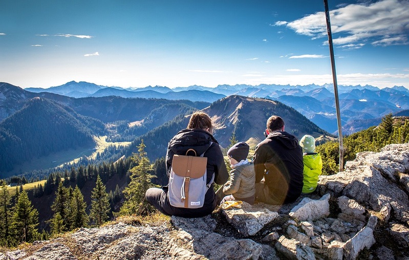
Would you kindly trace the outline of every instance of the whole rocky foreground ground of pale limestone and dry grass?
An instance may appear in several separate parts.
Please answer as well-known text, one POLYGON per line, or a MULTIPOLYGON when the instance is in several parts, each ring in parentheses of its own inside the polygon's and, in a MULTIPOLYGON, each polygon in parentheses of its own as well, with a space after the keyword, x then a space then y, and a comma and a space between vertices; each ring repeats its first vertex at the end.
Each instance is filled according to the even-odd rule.
POLYGON ((283 206, 243 203, 198 219, 132 218, 3 250, 9 259, 409 259, 409 144, 360 153, 283 206))

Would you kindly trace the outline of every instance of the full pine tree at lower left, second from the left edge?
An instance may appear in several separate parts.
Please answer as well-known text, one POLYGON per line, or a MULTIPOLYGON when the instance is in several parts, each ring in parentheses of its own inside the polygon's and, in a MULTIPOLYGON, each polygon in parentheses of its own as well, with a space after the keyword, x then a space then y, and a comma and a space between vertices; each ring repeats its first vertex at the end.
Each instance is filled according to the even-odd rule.
POLYGON ((38 236, 38 211, 28 198, 27 191, 18 196, 14 206, 11 227, 18 242, 32 242, 38 236))

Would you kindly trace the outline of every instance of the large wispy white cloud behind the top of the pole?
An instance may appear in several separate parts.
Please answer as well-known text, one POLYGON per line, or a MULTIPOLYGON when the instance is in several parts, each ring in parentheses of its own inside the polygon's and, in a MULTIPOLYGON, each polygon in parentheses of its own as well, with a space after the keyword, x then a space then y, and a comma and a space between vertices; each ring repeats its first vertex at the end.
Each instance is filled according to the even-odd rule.
MULTIPOLYGON (((370 41, 377 46, 409 44, 406 37, 409 32, 408 5, 407 0, 365 1, 330 11, 334 44, 348 46, 364 41, 370 41)), ((324 12, 310 14, 294 21, 277 21, 274 25, 286 26, 312 39, 327 37, 324 12)), ((326 42, 324 41, 324 44, 326 42)))

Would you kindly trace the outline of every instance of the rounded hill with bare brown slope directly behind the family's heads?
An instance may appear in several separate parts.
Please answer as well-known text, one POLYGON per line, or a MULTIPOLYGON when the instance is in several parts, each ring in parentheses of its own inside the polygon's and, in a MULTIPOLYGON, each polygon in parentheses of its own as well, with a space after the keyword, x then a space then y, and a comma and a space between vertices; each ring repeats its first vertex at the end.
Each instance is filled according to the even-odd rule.
MULTIPOLYGON (((323 139, 321 141, 331 137, 329 133, 291 107, 268 99, 234 95, 213 102, 203 112, 207 113, 216 125, 213 135, 222 147, 230 144, 233 133, 237 140, 249 142, 250 146, 254 147, 265 138, 263 133, 266 122, 272 115, 283 117, 286 122, 285 130, 299 138, 305 134, 313 135, 318 140, 323 139)), ((188 116, 178 116, 138 137, 130 146, 123 148, 120 154, 131 156, 132 153, 136 153, 136 146, 144 140, 149 159, 161 158, 166 155, 169 140, 180 130, 185 129, 188 121, 188 116)), ((104 160, 110 158, 105 157, 104 160)))

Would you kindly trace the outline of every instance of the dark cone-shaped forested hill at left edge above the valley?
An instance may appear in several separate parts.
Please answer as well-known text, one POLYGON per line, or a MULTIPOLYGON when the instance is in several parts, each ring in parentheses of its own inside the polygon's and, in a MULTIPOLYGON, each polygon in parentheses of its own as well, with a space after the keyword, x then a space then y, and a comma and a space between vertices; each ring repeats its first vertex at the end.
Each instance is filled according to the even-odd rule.
POLYGON ((48 99, 33 98, 0 122, 0 171, 35 157, 93 143, 93 134, 105 133, 104 124, 97 119, 78 115, 48 99))

